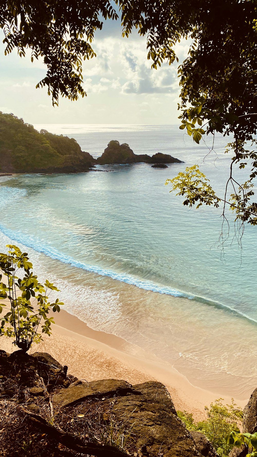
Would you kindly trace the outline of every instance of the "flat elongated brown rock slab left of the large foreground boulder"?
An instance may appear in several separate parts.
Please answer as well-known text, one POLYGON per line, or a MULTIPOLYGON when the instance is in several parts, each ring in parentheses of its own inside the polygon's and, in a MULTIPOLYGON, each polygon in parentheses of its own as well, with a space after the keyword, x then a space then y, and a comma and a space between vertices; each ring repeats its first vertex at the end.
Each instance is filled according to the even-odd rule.
POLYGON ((55 407, 64 408, 80 403, 89 398, 113 397, 134 392, 131 384, 117 379, 103 379, 91 383, 75 382, 67 389, 62 389, 53 397, 55 407))

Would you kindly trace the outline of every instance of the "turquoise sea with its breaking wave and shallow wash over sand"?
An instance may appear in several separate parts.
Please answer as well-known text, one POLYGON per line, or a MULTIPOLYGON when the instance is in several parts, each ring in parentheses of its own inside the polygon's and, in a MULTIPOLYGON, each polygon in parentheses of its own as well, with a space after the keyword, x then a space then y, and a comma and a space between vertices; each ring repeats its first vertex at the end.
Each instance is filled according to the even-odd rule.
POLYGON ((198 163, 221 194, 227 139, 215 138, 219 159, 214 163, 212 152, 203 163, 210 140, 194 145, 177 126, 36 128, 68 134, 95 157, 118 139, 136 154, 164 152, 186 163, 2 178, 0 248, 10 239, 30 248, 35 269, 63 286, 66 309, 92 328, 154 353, 196 385, 231 388, 246 398, 256 376, 255 365, 245 369, 249 352, 257 355, 256 228, 246 226, 241 251, 237 242, 230 245, 230 215, 221 261, 221 211, 189 210, 164 185, 198 163))

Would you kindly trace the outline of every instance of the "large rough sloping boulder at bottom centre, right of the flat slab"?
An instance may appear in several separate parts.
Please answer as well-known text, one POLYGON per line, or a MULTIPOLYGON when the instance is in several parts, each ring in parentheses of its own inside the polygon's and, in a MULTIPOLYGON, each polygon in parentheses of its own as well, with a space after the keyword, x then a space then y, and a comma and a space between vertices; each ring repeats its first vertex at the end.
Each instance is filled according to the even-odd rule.
POLYGON ((150 381, 133 388, 141 395, 130 393, 118 397, 112 413, 118 421, 133 427, 139 455, 199 457, 192 436, 177 417, 166 387, 150 381))

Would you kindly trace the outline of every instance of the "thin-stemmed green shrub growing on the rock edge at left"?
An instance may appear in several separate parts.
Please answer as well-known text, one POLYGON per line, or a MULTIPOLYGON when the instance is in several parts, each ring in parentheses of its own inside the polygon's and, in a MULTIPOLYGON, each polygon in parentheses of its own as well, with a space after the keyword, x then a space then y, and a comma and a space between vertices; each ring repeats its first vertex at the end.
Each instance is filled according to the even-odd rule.
MULTIPOLYGON (((0 253, 0 271, 7 276, 8 283, 0 282, 0 314, 7 307, 7 313, 0 323, 0 336, 14 338, 14 345, 27 352, 32 343, 42 340, 41 333, 51 335, 52 317, 48 318, 49 309, 59 313, 64 303, 57 298, 54 303, 48 302, 48 292, 59 291, 57 287, 46 280, 44 286, 33 275, 32 263, 29 262, 27 252, 12 244, 7 244, 8 254, 0 253), (24 270, 25 276, 21 279, 16 276, 17 271, 24 270), (43 322, 42 322, 43 319, 43 322), (39 326, 41 325, 41 332, 39 326)), ((0 281, 2 274, 0 274, 0 281)))

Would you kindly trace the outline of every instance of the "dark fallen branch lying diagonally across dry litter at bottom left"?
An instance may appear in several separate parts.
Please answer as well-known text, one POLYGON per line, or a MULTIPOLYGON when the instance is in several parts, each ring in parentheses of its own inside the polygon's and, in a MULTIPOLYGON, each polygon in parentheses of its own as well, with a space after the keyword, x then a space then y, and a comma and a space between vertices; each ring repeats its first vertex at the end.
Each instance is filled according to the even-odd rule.
POLYGON ((20 406, 20 408, 27 414, 33 425, 35 425, 40 432, 46 433, 49 437, 63 444, 72 451, 96 457, 128 457, 127 453, 119 451, 113 446, 102 446, 101 444, 95 444, 92 442, 84 443, 84 441, 82 441, 78 436, 60 431, 53 425, 49 425, 48 422, 38 414, 31 413, 22 406, 20 406))

